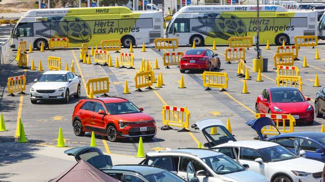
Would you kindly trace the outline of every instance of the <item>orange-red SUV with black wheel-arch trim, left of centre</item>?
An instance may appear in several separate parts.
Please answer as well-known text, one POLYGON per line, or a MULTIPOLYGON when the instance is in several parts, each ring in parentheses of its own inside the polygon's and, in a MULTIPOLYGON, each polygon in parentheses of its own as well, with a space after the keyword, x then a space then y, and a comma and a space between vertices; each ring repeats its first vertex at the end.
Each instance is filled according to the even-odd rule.
POLYGON ((75 106, 72 125, 77 136, 94 131, 109 141, 140 136, 151 139, 157 133, 156 121, 142 111, 120 97, 82 99, 75 106))

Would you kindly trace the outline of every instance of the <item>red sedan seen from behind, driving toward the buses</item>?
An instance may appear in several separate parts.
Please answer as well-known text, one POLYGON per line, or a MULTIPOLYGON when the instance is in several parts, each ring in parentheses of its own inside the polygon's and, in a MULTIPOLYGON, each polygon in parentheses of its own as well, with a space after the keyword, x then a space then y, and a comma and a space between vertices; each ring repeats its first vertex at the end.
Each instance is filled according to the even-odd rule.
POLYGON ((185 73, 185 70, 218 70, 220 65, 218 54, 210 49, 190 49, 180 58, 179 71, 185 73))

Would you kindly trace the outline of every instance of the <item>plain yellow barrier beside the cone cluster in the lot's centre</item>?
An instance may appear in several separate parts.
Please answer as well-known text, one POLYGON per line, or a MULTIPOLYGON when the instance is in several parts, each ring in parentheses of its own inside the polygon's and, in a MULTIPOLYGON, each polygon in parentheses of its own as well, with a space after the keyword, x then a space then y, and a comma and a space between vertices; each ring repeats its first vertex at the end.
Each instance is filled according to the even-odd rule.
POLYGON ((154 75, 153 71, 145 71, 141 73, 137 73, 135 76, 135 84, 136 88, 138 89, 137 91, 142 92, 141 88, 142 87, 148 87, 148 89, 152 90, 151 86, 154 83, 154 75))

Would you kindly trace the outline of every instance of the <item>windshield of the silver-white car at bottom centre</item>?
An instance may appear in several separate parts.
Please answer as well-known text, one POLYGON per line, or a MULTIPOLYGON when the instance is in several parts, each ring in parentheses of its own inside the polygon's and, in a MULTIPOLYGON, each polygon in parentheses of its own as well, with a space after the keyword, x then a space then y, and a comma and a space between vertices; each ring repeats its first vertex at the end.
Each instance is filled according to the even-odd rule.
POLYGON ((229 174, 244 171, 245 168, 226 155, 201 158, 217 174, 229 174))

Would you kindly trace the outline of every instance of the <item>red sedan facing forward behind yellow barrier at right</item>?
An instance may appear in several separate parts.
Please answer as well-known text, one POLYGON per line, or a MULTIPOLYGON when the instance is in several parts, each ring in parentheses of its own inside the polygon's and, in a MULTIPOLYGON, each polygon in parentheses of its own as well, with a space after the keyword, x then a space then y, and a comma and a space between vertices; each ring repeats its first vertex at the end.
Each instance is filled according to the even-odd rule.
POLYGON ((291 114, 296 121, 312 124, 314 108, 298 89, 292 87, 272 87, 264 89, 256 99, 258 113, 291 114))

